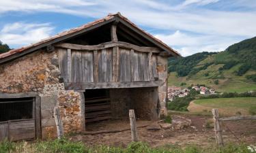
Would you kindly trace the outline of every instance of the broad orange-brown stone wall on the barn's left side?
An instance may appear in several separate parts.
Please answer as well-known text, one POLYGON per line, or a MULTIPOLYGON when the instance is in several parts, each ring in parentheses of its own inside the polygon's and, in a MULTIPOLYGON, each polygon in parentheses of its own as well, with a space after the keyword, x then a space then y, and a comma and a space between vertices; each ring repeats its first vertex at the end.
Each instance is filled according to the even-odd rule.
POLYGON ((58 63, 57 52, 38 51, 0 65, 0 93, 37 92, 41 97, 43 139, 56 136, 55 106, 65 133, 81 131, 81 97, 59 83, 58 63))

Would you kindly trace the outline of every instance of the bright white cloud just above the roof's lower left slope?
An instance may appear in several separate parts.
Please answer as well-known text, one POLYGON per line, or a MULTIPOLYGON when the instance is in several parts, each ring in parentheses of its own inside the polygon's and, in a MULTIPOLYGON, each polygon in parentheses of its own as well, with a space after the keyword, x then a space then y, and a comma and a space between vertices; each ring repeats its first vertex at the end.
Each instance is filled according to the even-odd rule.
POLYGON ((49 23, 14 22, 3 26, 0 31, 0 39, 11 46, 23 46, 49 37, 53 34, 53 29, 49 23))

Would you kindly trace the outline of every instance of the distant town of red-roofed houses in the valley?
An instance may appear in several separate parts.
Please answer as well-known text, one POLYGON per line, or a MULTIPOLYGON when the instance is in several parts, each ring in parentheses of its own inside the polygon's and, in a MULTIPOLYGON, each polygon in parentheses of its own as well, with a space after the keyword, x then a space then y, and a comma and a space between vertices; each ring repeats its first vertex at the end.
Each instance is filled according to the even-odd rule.
MULTIPOLYGON (((199 91, 202 95, 210 95, 215 94, 215 90, 212 88, 207 88, 205 86, 192 86, 191 89, 195 89, 199 91)), ((175 97, 185 97, 189 94, 189 88, 182 88, 179 86, 169 86, 168 87, 168 99, 169 101, 173 101, 175 97)))

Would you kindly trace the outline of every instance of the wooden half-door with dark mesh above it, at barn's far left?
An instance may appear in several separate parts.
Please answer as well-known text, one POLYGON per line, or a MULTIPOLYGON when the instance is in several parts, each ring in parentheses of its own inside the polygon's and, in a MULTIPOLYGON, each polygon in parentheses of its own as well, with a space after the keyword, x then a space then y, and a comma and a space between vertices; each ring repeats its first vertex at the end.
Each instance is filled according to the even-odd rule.
POLYGON ((35 98, 0 99, 0 141, 35 139, 35 98))

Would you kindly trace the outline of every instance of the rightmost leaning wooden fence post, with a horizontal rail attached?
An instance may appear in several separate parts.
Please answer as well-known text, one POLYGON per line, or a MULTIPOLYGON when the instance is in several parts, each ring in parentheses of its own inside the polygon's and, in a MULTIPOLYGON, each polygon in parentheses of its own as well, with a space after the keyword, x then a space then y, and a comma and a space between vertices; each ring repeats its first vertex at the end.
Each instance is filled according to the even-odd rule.
POLYGON ((213 120, 214 120, 214 131, 216 137, 216 143, 219 148, 223 147, 223 138, 221 136, 221 127, 218 122, 218 109, 212 109, 213 120))

